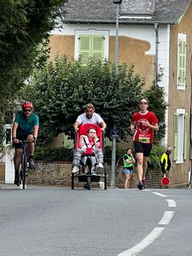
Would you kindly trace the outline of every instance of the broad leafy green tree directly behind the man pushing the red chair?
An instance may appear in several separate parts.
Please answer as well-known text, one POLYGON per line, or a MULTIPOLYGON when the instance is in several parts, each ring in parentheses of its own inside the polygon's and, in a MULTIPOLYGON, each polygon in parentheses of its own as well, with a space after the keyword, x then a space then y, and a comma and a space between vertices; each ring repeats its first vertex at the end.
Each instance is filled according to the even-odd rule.
POLYGON ((34 103, 40 117, 44 143, 60 132, 68 134, 86 102, 92 102, 96 113, 107 122, 108 137, 115 124, 122 131, 122 138, 127 139, 143 84, 133 66, 119 66, 117 82, 110 61, 90 59, 84 66, 80 60, 69 61, 62 56, 34 71, 25 96, 34 103))

